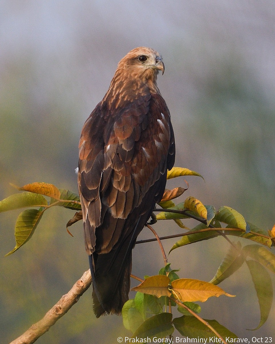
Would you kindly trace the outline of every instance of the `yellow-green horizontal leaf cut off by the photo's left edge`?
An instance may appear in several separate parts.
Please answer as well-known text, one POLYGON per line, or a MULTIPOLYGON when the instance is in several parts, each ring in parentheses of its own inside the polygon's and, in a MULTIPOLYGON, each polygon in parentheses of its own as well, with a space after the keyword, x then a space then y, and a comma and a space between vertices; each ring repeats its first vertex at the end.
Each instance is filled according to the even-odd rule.
POLYGON ((45 207, 48 203, 42 195, 32 192, 13 194, 0 201, 0 213, 26 207, 45 207))

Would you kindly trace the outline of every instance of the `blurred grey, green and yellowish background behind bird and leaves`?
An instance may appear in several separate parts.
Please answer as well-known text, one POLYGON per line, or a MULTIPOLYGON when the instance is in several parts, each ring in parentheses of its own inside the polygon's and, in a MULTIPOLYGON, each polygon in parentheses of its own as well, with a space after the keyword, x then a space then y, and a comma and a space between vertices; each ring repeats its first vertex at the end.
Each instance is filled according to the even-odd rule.
MULTIPOLYGON (((149 46, 165 63, 158 86, 172 116, 175 166, 205 178, 187 177, 183 198, 195 196, 216 209, 231 206, 264 230, 274 225, 273 0, 2 0, 0 46, 1 199, 15 192, 10 182, 43 181, 77 192, 81 128, 119 60, 134 47, 149 46)), ((168 183, 180 185, 183 178, 168 183)), ((66 223, 74 212, 64 208, 49 209, 32 239, 4 257, 15 245, 20 212, 0 214, 3 343, 40 320, 88 269, 82 224, 70 227, 69 236, 66 223)), ((159 236, 183 232, 174 222, 154 228, 159 236)), ((140 238, 148 237, 144 229, 140 238)), ((167 254, 175 241, 164 242, 167 254)), ((216 238, 174 250, 168 260, 180 277, 208 281, 227 249, 216 238)), ((155 275, 163 265, 157 244, 136 245, 135 275, 155 275)), ((240 337, 274 336, 274 303, 264 326, 246 330, 260 321, 246 267, 220 286, 237 296, 202 303, 201 316, 240 337)), ((120 317, 95 318, 91 292, 37 343, 115 343, 129 335, 120 317)))

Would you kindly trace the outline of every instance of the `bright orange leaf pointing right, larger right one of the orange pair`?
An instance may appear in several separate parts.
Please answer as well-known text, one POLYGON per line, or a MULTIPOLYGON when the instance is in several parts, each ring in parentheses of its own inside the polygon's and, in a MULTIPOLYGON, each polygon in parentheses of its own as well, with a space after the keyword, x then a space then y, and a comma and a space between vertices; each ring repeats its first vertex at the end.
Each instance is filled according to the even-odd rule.
POLYGON ((172 292, 181 302, 195 302, 206 301, 211 296, 219 297, 226 295, 233 297, 226 293, 223 289, 214 284, 190 278, 180 278, 171 282, 172 292))

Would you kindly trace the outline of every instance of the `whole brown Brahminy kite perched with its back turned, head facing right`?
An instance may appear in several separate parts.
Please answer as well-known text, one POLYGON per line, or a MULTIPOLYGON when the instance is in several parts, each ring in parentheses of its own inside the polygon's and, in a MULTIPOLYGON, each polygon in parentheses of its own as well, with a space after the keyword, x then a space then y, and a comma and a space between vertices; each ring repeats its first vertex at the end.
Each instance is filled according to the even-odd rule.
POLYGON ((120 314, 128 300, 132 249, 174 165, 159 71, 164 64, 155 50, 131 50, 81 131, 78 186, 97 318, 120 314))

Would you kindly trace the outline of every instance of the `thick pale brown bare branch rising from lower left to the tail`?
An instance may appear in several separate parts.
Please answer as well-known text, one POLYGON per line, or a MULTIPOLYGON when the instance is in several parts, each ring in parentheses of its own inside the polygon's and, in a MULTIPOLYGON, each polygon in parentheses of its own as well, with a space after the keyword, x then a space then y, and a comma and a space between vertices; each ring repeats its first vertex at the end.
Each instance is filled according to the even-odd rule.
POLYGON ((61 318, 79 300, 80 296, 90 287, 92 283, 90 269, 74 284, 73 288, 54 305, 43 319, 33 324, 29 330, 10 344, 32 344, 45 332, 47 332, 56 321, 61 318))

